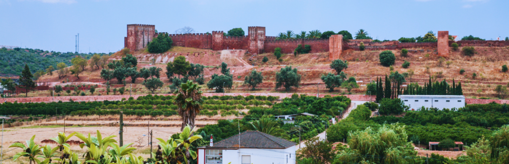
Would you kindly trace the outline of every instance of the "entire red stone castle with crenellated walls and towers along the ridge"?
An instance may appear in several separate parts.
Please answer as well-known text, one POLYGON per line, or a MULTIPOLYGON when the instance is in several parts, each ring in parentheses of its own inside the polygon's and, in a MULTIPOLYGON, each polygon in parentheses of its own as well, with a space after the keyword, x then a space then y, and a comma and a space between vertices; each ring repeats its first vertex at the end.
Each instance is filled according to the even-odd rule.
MULTIPOLYGON (((167 32, 155 32, 155 25, 128 24, 127 37, 124 38, 124 47, 131 51, 145 48, 153 38, 167 32)), ((212 34, 169 34, 174 46, 192 47, 200 49, 227 50, 245 49, 250 53, 270 53, 275 48, 281 48, 281 53, 293 53, 298 45, 310 45, 310 53, 329 52, 329 59, 340 58, 341 53, 347 49, 359 50, 363 42, 366 50, 395 50, 413 47, 435 47, 437 55, 447 57, 449 47, 455 41, 449 40, 449 31, 438 31, 438 42, 427 43, 400 43, 399 41, 372 42, 373 40, 344 41, 342 35, 332 35, 329 39, 290 39, 276 40, 276 37, 265 35, 265 27, 252 26, 247 29, 247 36, 224 36, 223 31, 212 31, 212 34)), ((462 46, 509 46, 507 41, 457 41, 462 46)))

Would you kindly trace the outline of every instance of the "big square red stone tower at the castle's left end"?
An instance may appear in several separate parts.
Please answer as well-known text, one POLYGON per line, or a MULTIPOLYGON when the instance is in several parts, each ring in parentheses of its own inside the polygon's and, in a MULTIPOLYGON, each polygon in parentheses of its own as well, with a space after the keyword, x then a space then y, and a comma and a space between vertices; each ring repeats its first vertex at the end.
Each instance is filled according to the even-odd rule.
POLYGON ((127 37, 124 38, 124 46, 131 51, 137 51, 147 46, 152 41, 155 33, 155 25, 128 24, 127 37))

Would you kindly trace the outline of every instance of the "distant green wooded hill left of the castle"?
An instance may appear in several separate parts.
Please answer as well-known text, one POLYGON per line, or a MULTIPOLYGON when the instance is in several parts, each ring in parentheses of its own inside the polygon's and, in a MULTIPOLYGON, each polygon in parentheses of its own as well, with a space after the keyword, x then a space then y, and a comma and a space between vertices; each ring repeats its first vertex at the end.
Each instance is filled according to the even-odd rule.
POLYGON ((49 65, 53 65, 53 68, 56 69, 56 64, 60 62, 71 65, 71 59, 76 55, 89 59, 93 53, 63 53, 31 48, 2 48, 0 49, 0 75, 19 76, 25 67, 25 63, 29 65, 32 73, 35 73, 38 70, 44 71, 49 67, 49 65))

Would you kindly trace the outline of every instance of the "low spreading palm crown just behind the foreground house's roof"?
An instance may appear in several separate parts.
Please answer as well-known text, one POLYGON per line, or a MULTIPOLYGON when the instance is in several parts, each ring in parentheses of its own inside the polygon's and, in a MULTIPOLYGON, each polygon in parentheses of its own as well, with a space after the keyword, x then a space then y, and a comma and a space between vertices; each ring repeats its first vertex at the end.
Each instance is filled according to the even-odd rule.
POLYGON ((279 124, 276 121, 273 121, 268 118, 260 118, 260 120, 253 121, 249 125, 242 125, 242 128, 245 130, 258 130, 259 132, 263 132, 275 137, 288 138, 289 136, 286 134, 285 130, 279 127, 279 124))

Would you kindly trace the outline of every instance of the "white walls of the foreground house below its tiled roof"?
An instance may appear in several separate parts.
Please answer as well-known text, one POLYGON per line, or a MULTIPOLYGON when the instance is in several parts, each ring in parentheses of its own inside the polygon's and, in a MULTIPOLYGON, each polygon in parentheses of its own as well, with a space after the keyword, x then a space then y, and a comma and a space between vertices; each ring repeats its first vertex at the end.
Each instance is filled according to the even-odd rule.
MULTIPOLYGON (((251 156, 253 164, 295 164, 295 146, 287 149, 240 149, 239 150, 223 150, 223 164, 242 164, 242 155, 251 156), (288 156, 288 162, 287 162, 288 156)), ((198 150, 198 164, 205 163, 204 149, 198 150)))

